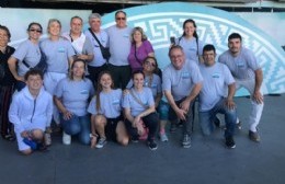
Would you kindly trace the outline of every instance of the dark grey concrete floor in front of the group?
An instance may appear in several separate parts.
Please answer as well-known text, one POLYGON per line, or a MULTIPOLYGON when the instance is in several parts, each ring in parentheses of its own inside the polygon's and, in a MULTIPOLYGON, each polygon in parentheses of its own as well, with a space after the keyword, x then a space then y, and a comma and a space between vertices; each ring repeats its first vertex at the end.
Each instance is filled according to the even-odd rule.
POLYGON ((181 130, 169 134, 169 142, 158 140, 156 151, 145 142, 128 147, 107 142, 100 150, 77 141, 64 146, 57 136, 48 152, 24 157, 18 153, 16 142, 0 139, 0 183, 284 184, 285 95, 265 96, 261 143, 248 139, 249 99, 237 97, 236 102, 243 123, 235 137, 236 149, 225 148, 223 129, 203 137, 197 122, 190 149, 180 146, 181 130))

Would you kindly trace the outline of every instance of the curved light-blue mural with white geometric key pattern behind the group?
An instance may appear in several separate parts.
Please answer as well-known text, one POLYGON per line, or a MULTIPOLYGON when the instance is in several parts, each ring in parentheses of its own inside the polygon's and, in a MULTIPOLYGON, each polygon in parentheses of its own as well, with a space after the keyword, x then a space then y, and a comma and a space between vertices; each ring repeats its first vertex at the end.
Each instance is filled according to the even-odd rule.
MULTIPOLYGON (((285 53, 278 43, 258 27, 236 14, 193 3, 169 2, 126 9, 128 26, 141 26, 152 43, 159 67, 169 62, 170 36, 182 35, 182 23, 193 19, 197 23, 200 38, 214 44, 217 54, 227 49, 227 38, 232 32, 243 37, 243 45, 255 53, 264 72, 263 91, 265 94, 285 92, 285 53)), ((114 22, 114 12, 103 16, 103 27, 114 22)), ((246 95, 239 90, 237 95, 246 95)))

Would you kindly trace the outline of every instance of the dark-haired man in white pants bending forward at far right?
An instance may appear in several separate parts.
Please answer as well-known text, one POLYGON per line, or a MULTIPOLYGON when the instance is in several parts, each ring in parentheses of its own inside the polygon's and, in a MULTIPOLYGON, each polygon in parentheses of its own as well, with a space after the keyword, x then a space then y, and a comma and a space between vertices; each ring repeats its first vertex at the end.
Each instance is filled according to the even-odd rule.
POLYGON ((228 37, 229 49, 219 56, 218 61, 226 64, 236 80, 236 89, 246 88, 251 95, 252 111, 249 117, 249 138, 260 141, 256 126, 263 111, 263 95, 261 85, 263 72, 255 56, 248 48, 242 47, 240 34, 232 33, 228 37))

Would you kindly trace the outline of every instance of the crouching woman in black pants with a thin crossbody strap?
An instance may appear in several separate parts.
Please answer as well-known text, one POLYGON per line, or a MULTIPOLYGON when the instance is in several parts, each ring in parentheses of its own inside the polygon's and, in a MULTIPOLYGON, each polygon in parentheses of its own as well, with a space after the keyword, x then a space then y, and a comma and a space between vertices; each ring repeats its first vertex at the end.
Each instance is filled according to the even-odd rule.
POLYGON ((141 136, 141 124, 148 128, 147 145, 150 150, 156 150, 157 143, 155 135, 157 133, 159 117, 156 113, 156 105, 152 92, 144 87, 145 73, 140 70, 133 72, 134 87, 124 95, 123 107, 125 114, 125 125, 132 141, 138 141, 141 136))

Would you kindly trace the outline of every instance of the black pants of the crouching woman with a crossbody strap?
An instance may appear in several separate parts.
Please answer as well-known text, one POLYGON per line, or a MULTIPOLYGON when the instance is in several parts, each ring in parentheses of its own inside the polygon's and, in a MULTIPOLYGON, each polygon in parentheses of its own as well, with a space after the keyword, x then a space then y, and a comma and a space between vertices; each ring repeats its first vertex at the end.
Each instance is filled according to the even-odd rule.
MULTIPOLYGON (((145 123, 146 127, 149 130, 148 140, 155 139, 155 136, 156 136, 156 133, 157 133, 157 129, 158 129, 158 123, 159 123, 158 114, 151 113, 151 114, 142 117, 142 122, 145 123)), ((138 139, 139 135, 137 133, 137 128, 134 128, 132 126, 132 123, 128 119, 125 120, 125 125, 126 125, 126 128, 127 128, 129 136, 134 139, 138 139)))

